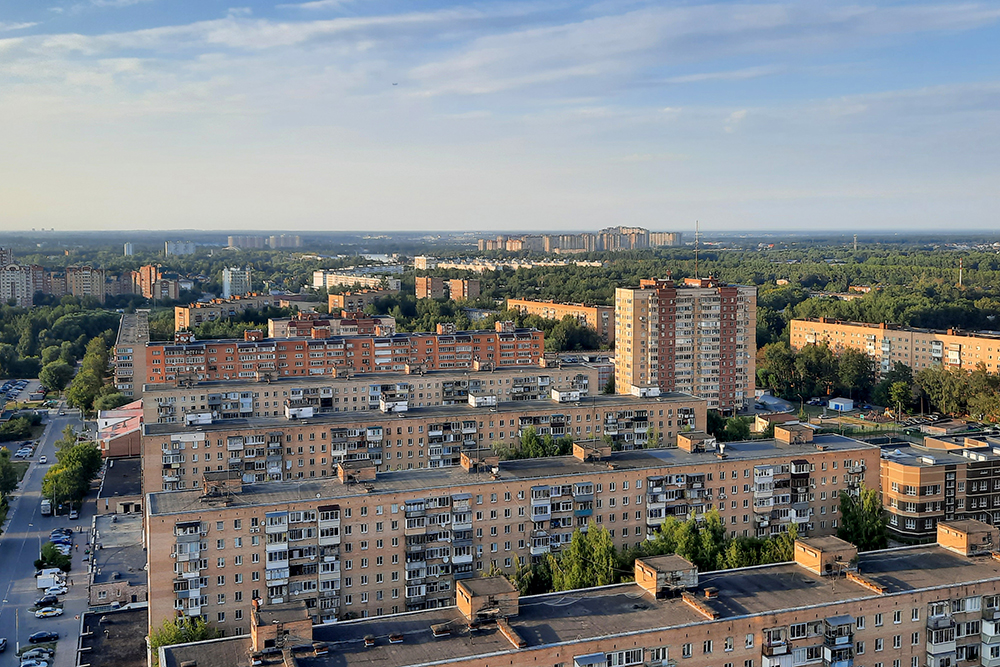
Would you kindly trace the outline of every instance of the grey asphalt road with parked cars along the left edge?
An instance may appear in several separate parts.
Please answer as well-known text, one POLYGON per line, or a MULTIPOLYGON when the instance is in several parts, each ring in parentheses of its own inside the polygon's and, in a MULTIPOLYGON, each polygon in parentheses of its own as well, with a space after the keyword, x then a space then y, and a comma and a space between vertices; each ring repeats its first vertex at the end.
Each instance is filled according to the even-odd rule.
MULTIPOLYGON (((28 635, 39 630, 59 633, 53 667, 72 667, 76 664, 76 647, 80 634, 80 620, 77 618, 87 608, 87 564, 82 561, 90 534, 91 519, 94 515, 93 502, 84 503, 80 519, 70 521, 64 516, 42 516, 39 511, 42 477, 49 465, 55 461, 55 442, 62 430, 72 424, 81 425, 76 411, 67 410, 66 416, 50 417, 38 449, 31 459, 31 465, 21 485, 14 492, 14 500, 7 514, 7 525, 0 536, 0 637, 7 638, 7 651, 0 653, 0 665, 18 663, 15 650, 18 641, 21 648, 28 646, 28 635), (48 457, 49 463, 39 465, 38 458, 48 457), (79 528, 76 543, 79 551, 73 552, 73 570, 69 578, 74 585, 69 594, 63 596, 65 613, 55 618, 35 618, 28 611, 34 601, 41 597, 36 588, 34 561, 38 558, 41 545, 48 540, 49 532, 58 526, 79 528), (15 610, 18 631, 15 631, 15 610)), ((54 415, 55 413, 53 413, 54 415)), ((67 582, 68 583, 68 582, 67 582)))

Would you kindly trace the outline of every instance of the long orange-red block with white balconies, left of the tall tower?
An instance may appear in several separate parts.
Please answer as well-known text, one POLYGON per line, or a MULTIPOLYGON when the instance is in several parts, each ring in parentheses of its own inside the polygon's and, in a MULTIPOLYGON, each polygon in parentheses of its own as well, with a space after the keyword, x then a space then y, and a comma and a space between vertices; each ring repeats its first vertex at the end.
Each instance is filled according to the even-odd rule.
POLYGON ((457 331, 394 336, 335 336, 265 339, 247 331, 244 340, 196 341, 176 332, 173 342, 146 345, 146 382, 268 379, 403 371, 538 365, 544 335, 497 322, 494 331, 457 331))

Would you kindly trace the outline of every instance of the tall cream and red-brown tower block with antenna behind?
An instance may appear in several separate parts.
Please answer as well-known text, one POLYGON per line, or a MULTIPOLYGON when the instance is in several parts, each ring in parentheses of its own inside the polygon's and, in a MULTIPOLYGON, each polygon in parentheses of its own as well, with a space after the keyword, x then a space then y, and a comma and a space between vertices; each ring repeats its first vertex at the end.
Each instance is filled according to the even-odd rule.
POLYGON ((615 290, 615 389, 655 386, 740 410, 756 381, 757 288, 713 278, 615 290))

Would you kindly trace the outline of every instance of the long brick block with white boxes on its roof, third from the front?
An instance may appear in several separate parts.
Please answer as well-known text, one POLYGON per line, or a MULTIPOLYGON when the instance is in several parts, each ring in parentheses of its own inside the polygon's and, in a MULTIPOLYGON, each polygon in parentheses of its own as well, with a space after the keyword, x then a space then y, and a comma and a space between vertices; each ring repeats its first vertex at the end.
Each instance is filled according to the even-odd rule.
POLYGON ((189 413, 184 423, 143 427, 145 489, 197 488, 206 470, 234 471, 252 483, 333 476, 343 461, 379 470, 454 467, 469 449, 516 449, 529 429, 574 441, 603 438, 626 450, 662 447, 705 425, 705 402, 685 394, 552 395, 570 402, 470 395, 464 405, 409 409, 402 395, 385 392, 379 411, 318 414, 289 398, 268 418, 215 422, 189 413))

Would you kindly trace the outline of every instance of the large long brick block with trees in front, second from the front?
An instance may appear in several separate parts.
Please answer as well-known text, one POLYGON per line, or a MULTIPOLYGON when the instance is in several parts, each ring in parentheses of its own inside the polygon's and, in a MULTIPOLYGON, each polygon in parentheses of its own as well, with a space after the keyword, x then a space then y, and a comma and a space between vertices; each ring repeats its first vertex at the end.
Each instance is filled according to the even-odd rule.
MULTIPOLYGON (((432 610, 436 618, 451 613, 442 608, 455 604, 458 584, 491 570, 510 573, 518 563, 558 552, 586 526, 607 528, 618 548, 655 534, 665 516, 699 517, 710 510, 733 536, 777 535, 791 525, 800 535, 830 534, 837 493, 863 483, 863 471, 847 469, 878 462, 876 447, 838 435, 817 436, 805 446, 727 443, 724 451, 608 452, 601 445, 577 446, 573 456, 517 461, 470 451, 458 467, 387 473, 354 461, 339 466, 336 477, 284 484, 244 485, 238 472, 224 470, 208 473, 202 489, 151 493, 150 622, 156 627, 178 613, 206 614, 227 633, 245 633, 254 599, 265 609, 301 601, 313 622, 419 610, 432 610), (801 499, 791 497, 793 484, 801 487, 801 499)), ((994 565, 1000 572, 1000 563, 994 565)), ((935 585, 947 581, 937 578, 936 564, 920 567, 935 585)), ((872 576, 877 570, 862 571, 872 576)), ((739 586, 717 588, 741 617, 751 601, 749 609, 762 610, 759 596, 767 590, 780 594, 783 604, 796 601, 786 606, 821 601, 790 593, 765 575, 761 568, 741 575, 758 582, 745 597, 737 598, 739 586)), ((800 582, 813 581, 801 576, 800 582)), ((838 582, 837 590, 842 586, 849 584, 838 582)), ((838 599, 853 599, 859 590, 842 591, 838 599)), ((595 608, 604 607, 601 596, 595 608)), ((635 597, 628 608, 636 608, 635 597)), ((581 625, 583 608, 557 607, 573 619, 578 639, 587 627, 581 625)), ((659 625, 687 622, 667 610, 655 616, 659 625)), ((615 627, 637 629, 630 619, 599 625, 602 635, 615 627)), ((462 627, 455 631, 465 632, 462 627)), ((712 632, 721 641, 719 629, 712 632)))

